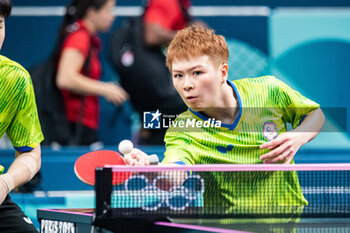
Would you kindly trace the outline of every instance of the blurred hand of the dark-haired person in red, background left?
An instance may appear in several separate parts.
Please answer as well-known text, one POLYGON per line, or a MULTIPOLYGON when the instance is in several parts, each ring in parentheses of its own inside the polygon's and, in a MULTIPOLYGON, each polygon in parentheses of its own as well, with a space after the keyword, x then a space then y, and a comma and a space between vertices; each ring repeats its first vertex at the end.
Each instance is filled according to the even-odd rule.
POLYGON ((113 82, 105 83, 103 96, 106 100, 115 105, 121 105, 129 99, 129 94, 122 87, 113 82))

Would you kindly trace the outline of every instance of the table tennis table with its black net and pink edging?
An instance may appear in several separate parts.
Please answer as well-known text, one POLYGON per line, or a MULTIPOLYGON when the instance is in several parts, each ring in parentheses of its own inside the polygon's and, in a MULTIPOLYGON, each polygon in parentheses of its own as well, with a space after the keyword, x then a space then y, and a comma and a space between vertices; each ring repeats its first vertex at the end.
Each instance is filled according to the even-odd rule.
MULTIPOLYGON (((39 209, 37 217, 42 233, 350 232, 349 164, 299 164, 283 165, 282 168, 282 172, 286 173, 298 171, 301 188, 309 204, 294 205, 297 202, 292 201, 291 205, 286 206, 255 205, 264 201, 270 203, 271 198, 278 197, 274 196, 274 191, 278 189, 274 189, 273 186, 269 187, 272 192, 268 192, 272 196, 265 197, 266 193, 257 193, 260 195, 259 202, 253 203, 249 208, 239 205, 220 206, 215 200, 211 206, 208 206, 208 202, 205 203, 205 200, 210 200, 208 192, 212 189, 210 184, 207 184, 206 196, 203 186, 205 179, 202 178, 206 172, 226 174, 230 178, 229 182, 249 185, 249 192, 253 187, 251 179, 256 178, 261 182, 270 178, 277 179, 272 185, 281 185, 279 188, 285 189, 288 186, 278 183, 282 174, 279 173, 280 165, 195 165, 157 168, 120 166, 96 169, 95 209, 39 209), (133 172, 134 175, 121 187, 113 186, 113 175, 124 170, 133 172), (164 172, 170 174, 179 170, 190 172, 180 185, 169 189, 166 182, 160 182, 168 182, 164 179, 168 177, 164 172), (156 172, 153 174, 154 171, 156 172), (148 175, 143 175, 146 173, 148 175), (240 177, 240 174, 242 180, 231 179, 240 177), (153 182, 146 177, 153 177, 153 182)), ((181 171, 172 174, 169 177, 183 173, 181 171)), ((232 183, 232 188, 235 184, 232 183)), ((228 187, 231 187, 231 183, 228 187)), ((236 191, 239 192, 240 189, 236 191)), ((244 186, 241 191, 246 194, 247 187, 244 186)), ((281 198, 283 201, 284 197, 281 198)))

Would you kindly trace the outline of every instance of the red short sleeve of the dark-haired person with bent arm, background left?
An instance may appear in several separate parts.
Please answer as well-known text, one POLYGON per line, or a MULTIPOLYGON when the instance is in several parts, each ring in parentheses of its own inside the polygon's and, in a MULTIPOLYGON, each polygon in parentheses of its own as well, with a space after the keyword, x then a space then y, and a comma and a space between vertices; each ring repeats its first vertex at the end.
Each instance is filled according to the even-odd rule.
POLYGON ((69 34, 63 43, 62 51, 68 48, 78 50, 86 58, 90 48, 89 33, 84 30, 78 30, 69 34))

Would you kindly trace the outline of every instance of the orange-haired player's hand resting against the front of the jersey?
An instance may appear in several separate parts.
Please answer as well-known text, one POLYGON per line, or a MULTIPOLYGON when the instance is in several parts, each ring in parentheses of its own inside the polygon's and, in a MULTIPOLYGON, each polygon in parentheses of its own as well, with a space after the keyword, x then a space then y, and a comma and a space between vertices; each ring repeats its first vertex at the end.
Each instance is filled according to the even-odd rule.
POLYGON ((260 156, 264 163, 289 164, 299 148, 306 143, 303 133, 289 131, 279 135, 274 140, 266 142, 260 149, 269 149, 270 152, 260 156))

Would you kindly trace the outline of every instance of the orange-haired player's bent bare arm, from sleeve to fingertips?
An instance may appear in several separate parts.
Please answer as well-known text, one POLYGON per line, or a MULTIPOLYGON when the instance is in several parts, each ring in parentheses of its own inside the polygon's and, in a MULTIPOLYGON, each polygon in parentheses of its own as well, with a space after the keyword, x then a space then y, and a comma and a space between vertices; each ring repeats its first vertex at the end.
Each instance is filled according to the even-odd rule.
POLYGON ((264 163, 284 163, 289 164, 299 148, 314 139, 322 129, 325 116, 320 108, 308 114, 304 121, 289 132, 279 135, 274 140, 264 143, 260 149, 269 149, 260 157, 264 163))

